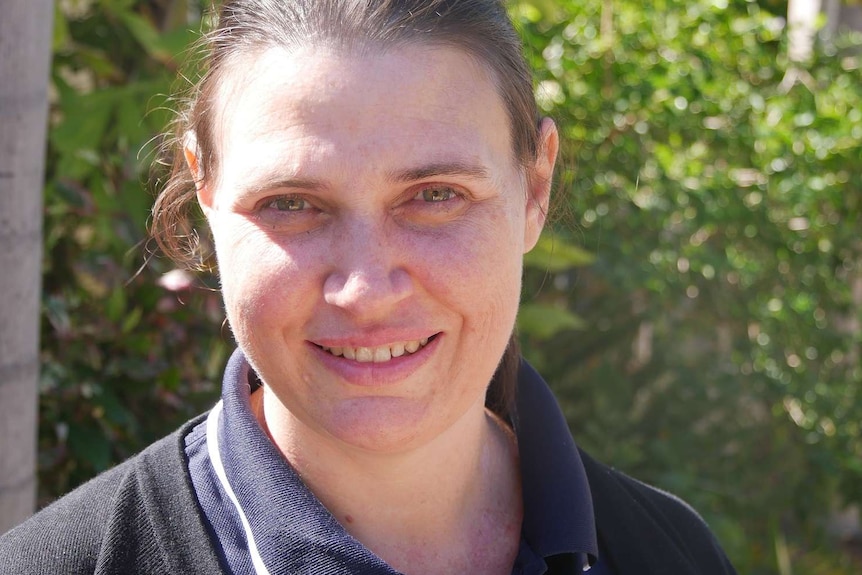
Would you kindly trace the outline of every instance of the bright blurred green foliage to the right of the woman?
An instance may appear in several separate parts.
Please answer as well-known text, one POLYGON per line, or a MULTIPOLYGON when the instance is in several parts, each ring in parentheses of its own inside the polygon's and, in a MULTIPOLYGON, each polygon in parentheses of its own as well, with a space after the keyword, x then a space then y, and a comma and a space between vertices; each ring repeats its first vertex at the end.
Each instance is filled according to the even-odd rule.
POLYGON ((859 52, 795 69, 770 4, 514 7, 564 134, 555 237, 596 257, 526 282, 587 327, 522 337, 578 441, 740 572, 856 573, 824 526, 862 498, 859 52))

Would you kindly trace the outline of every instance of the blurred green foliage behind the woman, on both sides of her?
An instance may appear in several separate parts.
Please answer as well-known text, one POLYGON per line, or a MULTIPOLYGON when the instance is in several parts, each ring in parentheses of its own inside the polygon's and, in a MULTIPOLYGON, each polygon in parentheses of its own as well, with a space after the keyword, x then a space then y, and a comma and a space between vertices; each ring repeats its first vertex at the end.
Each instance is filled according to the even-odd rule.
MULTIPOLYGON (((217 282, 145 230, 202 4, 57 2, 43 501, 218 393, 217 282)), ((857 573, 827 520, 862 500, 862 73, 844 39, 794 69, 784 10, 512 2, 568 214, 527 258, 519 332, 579 443, 691 502, 740 573, 857 573)))

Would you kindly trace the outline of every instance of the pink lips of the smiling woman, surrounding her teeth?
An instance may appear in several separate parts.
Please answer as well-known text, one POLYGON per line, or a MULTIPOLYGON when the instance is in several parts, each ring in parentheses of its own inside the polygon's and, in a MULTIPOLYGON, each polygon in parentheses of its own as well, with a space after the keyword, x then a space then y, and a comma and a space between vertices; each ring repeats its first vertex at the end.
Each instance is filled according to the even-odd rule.
MULTIPOLYGON (((437 333, 428 341, 428 343, 424 347, 420 348, 418 351, 411 354, 404 354, 401 357, 393 357, 392 359, 384 363, 362 363, 354 359, 347 359, 343 356, 339 357, 332 355, 331 353, 329 353, 328 351, 324 351, 320 347, 321 345, 325 345, 327 347, 345 347, 350 346, 350 344, 342 343, 341 345, 338 345, 329 343, 308 342, 308 346, 309 348, 311 348, 311 352, 314 354, 314 357, 316 357, 317 360, 328 371, 337 375, 345 382, 351 385, 361 387, 385 387, 391 385, 398 385, 399 383, 402 383, 405 379, 410 377, 416 370, 418 370, 431 358, 431 356, 437 350, 437 347, 440 345, 440 340, 442 339, 443 333, 437 333)), ((391 343, 393 341, 409 341, 409 339, 390 339, 386 343, 391 343)), ((380 343, 375 346, 370 345, 369 341, 365 340, 363 342, 363 345, 365 347, 378 347, 380 345, 386 344, 380 343)), ((353 345, 351 347, 361 346, 353 345)))

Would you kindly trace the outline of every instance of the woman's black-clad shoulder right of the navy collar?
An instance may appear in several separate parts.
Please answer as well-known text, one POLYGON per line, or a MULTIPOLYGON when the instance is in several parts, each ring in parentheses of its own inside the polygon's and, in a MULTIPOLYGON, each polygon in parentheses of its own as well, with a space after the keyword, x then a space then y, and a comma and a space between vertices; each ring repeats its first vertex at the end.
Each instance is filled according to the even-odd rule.
POLYGON ((735 573, 706 522, 685 501, 598 463, 583 451, 581 457, 599 536, 612 556, 637 555, 639 561, 673 564, 675 573, 735 573))

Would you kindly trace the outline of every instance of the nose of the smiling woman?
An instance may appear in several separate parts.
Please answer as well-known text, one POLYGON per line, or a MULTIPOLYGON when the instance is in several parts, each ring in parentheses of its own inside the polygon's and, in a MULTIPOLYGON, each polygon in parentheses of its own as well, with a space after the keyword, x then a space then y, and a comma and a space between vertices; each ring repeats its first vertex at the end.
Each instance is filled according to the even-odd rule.
POLYGON ((413 280, 400 257, 403 250, 383 225, 352 227, 333 245, 335 265, 324 282, 324 301, 357 320, 384 319, 413 293, 413 280))

